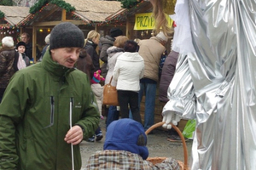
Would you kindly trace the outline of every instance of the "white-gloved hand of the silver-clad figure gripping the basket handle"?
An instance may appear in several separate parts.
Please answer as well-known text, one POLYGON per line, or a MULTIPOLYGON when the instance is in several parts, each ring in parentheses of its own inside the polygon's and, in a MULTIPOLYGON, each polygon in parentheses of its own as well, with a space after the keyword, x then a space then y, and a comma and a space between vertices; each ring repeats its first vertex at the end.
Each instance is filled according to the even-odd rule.
POLYGON ((163 127, 167 129, 171 129, 172 125, 170 123, 172 122, 172 124, 176 126, 177 122, 179 122, 181 118, 182 118, 181 116, 175 114, 173 111, 167 112, 163 116, 162 122, 166 122, 165 124, 163 124, 163 127))

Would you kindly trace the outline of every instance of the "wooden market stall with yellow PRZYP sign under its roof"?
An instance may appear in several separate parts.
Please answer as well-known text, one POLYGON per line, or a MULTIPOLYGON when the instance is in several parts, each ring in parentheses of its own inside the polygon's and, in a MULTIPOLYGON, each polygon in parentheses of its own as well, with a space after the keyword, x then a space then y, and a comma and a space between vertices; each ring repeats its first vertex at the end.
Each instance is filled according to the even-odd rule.
MULTIPOLYGON (((164 5, 166 6, 167 20, 172 26, 172 20, 168 15, 174 14, 176 0, 165 0, 163 2, 165 2, 164 5)), ((152 10, 153 7, 149 1, 140 0, 137 5, 131 8, 122 8, 118 12, 109 15, 106 18, 106 22, 126 26, 126 36, 131 39, 147 39, 151 37, 152 31, 154 31, 152 10)))

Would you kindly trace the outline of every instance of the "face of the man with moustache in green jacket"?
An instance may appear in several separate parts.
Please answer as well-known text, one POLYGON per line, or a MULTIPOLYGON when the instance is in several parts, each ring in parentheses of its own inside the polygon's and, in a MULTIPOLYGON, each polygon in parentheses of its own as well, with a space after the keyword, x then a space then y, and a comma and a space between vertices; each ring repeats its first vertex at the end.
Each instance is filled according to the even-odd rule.
POLYGON ((54 61, 67 68, 73 68, 73 65, 79 59, 81 48, 56 48, 51 49, 51 56, 54 61))

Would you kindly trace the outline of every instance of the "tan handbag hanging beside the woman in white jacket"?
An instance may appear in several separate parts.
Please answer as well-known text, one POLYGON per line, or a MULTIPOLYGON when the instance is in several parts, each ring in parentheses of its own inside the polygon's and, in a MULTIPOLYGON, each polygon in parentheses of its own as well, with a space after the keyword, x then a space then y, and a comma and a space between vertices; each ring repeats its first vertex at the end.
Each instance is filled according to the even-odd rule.
POLYGON ((110 82, 104 86, 103 89, 103 105, 119 105, 118 94, 115 86, 111 86, 110 82))

